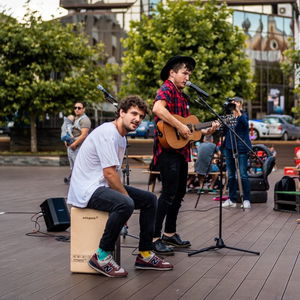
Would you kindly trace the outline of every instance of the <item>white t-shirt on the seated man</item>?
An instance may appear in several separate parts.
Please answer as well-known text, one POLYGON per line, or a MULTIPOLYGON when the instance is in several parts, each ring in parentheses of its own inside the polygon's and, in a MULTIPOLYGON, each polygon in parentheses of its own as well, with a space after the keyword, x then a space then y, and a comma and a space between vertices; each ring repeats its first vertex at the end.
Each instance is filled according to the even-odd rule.
POLYGON ((103 169, 121 169, 126 138, 112 122, 104 123, 90 133, 77 154, 72 170, 68 204, 86 207, 92 194, 100 186, 108 186, 103 169))

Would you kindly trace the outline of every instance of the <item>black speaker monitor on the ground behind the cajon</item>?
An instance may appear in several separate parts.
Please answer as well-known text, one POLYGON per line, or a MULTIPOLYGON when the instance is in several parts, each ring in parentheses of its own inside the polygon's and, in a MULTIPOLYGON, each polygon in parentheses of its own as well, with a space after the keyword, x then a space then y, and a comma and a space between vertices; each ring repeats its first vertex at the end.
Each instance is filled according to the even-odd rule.
POLYGON ((47 231, 64 231, 70 227, 70 213, 64 198, 49 198, 41 205, 47 231))

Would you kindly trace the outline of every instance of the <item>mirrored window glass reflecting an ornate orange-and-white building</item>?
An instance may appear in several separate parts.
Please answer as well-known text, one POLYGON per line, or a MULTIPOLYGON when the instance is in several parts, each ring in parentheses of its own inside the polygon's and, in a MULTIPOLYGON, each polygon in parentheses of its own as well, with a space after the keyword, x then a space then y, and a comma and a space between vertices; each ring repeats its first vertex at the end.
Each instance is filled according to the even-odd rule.
POLYGON ((278 90, 285 104, 289 102, 290 87, 280 62, 289 47, 289 38, 293 37, 292 18, 234 11, 233 24, 247 35, 246 53, 252 60, 257 84, 252 102, 253 117, 267 112, 271 90, 278 90))

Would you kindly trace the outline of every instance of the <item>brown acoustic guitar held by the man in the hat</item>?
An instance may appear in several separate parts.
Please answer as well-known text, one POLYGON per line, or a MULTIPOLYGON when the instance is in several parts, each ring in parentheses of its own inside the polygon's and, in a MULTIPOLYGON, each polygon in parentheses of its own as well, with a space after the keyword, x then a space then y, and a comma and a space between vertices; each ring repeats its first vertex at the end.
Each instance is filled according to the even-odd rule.
POLYGON ((173 115, 178 121, 189 127, 191 135, 188 138, 182 137, 178 130, 168 123, 160 120, 157 123, 158 140, 163 148, 180 149, 187 145, 190 141, 200 140, 202 134, 201 129, 211 127, 212 122, 199 123, 196 116, 190 115, 186 118, 173 115))

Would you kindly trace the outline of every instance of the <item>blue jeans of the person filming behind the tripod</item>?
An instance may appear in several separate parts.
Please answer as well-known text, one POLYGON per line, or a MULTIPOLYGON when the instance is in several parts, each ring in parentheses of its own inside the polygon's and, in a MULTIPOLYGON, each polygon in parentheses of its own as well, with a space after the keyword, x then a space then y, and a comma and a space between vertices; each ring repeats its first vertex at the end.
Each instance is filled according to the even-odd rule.
MULTIPOLYGON (((226 169, 228 173, 228 189, 229 189, 229 198, 232 202, 237 201, 237 176, 236 176, 236 168, 235 168, 235 162, 233 158, 233 154, 231 149, 224 149, 224 156, 226 161, 226 169)), ((238 163, 239 163, 239 169, 240 169, 240 175, 241 175, 241 181, 242 181, 242 187, 244 192, 244 198, 243 200, 249 200, 250 198, 250 183, 248 179, 248 153, 239 153, 237 155, 238 163)))

